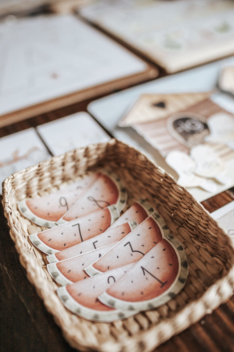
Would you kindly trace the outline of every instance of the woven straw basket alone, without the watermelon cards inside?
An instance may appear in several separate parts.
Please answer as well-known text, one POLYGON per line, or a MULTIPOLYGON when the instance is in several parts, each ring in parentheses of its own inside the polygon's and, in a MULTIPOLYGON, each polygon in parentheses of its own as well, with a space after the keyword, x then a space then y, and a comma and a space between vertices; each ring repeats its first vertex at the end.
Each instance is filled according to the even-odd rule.
POLYGON ((3 182, 3 207, 10 235, 27 277, 69 344, 82 351, 152 351, 228 300, 234 287, 234 247, 209 213, 139 153, 115 139, 76 149, 13 174, 3 182), (148 198, 185 248, 189 276, 184 289, 160 308, 114 323, 95 323, 68 311, 55 292, 42 254, 28 241, 41 227, 23 218, 17 201, 56 191, 89 171, 109 166, 125 182, 128 205, 148 198))

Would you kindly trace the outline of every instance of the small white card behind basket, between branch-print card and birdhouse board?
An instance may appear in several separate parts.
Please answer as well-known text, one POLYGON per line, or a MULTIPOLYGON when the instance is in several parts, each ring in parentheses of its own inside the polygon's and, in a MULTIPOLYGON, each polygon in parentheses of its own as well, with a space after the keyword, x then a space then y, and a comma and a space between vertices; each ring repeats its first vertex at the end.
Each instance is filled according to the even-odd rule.
POLYGON ((87 112, 48 122, 38 126, 37 130, 53 155, 111 138, 87 112))

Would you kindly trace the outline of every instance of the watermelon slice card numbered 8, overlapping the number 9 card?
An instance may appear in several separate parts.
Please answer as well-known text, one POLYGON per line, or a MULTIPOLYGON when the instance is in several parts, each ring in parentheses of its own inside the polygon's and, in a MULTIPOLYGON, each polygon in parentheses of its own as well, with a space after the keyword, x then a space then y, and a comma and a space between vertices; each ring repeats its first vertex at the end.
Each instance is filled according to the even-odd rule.
POLYGON ((106 171, 57 223, 62 224, 80 218, 112 204, 116 204, 118 211, 121 212, 126 201, 127 193, 119 176, 111 171, 106 171))

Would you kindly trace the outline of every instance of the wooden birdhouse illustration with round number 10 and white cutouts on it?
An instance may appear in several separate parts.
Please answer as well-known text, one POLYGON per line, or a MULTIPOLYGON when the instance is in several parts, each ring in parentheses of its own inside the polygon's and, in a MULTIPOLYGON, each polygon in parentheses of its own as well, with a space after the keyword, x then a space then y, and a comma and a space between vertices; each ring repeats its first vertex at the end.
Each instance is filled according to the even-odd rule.
POLYGON ((234 184, 234 115, 211 92, 143 94, 119 125, 156 148, 183 186, 211 196, 234 184))

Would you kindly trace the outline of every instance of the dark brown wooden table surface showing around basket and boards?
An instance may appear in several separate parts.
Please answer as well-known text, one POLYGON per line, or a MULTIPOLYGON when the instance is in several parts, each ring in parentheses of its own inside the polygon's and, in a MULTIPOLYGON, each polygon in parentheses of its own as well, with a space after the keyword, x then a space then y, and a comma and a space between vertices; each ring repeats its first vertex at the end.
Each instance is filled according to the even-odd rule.
MULTIPOLYGON (((86 110, 89 101, 0 129, 0 137, 86 110)), ((234 189, 203 201, 209 211, 234 199, 234 189)), ((72 352, 20 265, 0 206, 0 351, 72 352)), ((234 296, 199 323, 159 346, 156 352, 234 351, 234 296)), ((131 351, 134 352, 134 351, 131 351)))

